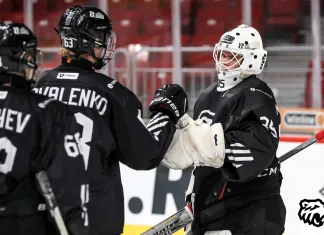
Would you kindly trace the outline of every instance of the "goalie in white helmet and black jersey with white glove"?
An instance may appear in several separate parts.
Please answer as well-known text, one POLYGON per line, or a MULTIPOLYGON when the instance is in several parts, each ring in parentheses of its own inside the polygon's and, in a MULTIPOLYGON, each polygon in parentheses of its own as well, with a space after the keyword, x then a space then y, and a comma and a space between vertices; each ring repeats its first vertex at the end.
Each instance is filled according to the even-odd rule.
POLYGON ((214 50, 218 82, 202 92, 193 120, 177 130, 166 153, 169 168, 195 166, 186 197, 194 213, 187 235, 284 232, 276 157, 280 114, 271 89, 256 77, 266 58, 254 28, 226 32, 214 50))

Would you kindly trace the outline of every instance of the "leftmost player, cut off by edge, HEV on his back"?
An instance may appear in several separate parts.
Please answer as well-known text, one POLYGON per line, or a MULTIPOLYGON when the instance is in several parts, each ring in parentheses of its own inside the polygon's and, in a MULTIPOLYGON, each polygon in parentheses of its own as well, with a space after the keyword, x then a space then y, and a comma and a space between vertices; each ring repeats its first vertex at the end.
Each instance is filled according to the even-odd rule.
POLYGON ((67 105, 31 92, 39 55, 24 24, 0 24, 0 234, 59 234, 36 184, 44 170, 69 234, 85 235, 79 127, 67 105))

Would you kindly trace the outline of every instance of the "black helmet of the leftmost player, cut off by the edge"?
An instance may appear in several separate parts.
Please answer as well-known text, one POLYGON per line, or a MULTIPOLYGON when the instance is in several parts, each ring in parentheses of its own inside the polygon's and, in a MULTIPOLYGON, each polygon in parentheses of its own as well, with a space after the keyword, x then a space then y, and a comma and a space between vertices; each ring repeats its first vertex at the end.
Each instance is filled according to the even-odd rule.
POLYGON ((26 80, 33 81, 40 61, 37 38, 26 25, 0 23, 0 73, 22 73, 26 80))

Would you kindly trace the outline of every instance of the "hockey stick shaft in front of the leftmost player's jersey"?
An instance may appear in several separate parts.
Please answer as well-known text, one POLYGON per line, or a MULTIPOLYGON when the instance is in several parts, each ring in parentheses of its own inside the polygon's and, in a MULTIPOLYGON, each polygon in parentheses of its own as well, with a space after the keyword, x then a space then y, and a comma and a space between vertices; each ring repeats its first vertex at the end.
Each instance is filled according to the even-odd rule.
POLYGON ((57 202, 46 172, 45 171, 38 172, 36 174, 36 179, 38 181, 38 185, 40 187, 42 195, 45 198, 49 211, 53 219, 55 220, 55 224, 60 232, 60 235, 69 235, 66 226, 64 224, 60 209, 57 206, 57 202))

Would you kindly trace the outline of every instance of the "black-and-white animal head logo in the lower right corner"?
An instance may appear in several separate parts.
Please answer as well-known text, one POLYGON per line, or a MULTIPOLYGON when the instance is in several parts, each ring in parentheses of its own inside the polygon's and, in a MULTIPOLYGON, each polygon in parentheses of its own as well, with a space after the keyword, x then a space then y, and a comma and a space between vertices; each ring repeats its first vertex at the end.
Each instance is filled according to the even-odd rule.
POLYGON ((301 200, 298 217, 304 223, 321 227, 324 224, 324 202, 320 199, 301 200))

